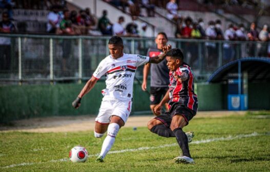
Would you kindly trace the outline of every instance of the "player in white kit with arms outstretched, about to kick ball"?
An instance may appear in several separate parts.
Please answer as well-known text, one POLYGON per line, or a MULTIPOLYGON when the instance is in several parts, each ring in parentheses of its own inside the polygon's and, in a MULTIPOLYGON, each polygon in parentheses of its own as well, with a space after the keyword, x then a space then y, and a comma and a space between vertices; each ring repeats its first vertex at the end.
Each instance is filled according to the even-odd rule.
POLYGON ((137 67, 148 62, 161 62, 171 46, 164 46, 163 53, 151 58, 137 54, 125 54, 123 53, 122 38, 113 36, 108 42, 108 48, 110 55, 100 62, 91 79, 87 81, 79 96, 72 102, 72 106, 78 109, 82 97, 103 75, 106 75, 106 89, 102 90, 104 97, 99 114, 95 118, 94 136, 101 138, 107 131, 107 137, 103 141, 101 153, 96 162, 104 162, 103 159, 113 145, 119 129, 124 126, 131 112, 133 81, 137 67))

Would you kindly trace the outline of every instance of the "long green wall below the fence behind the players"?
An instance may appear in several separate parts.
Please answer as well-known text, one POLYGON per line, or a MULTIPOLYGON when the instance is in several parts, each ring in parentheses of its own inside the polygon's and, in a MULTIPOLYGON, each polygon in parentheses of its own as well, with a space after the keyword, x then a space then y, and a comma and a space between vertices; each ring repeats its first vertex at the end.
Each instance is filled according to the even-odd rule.
MULTIPOLYGON (((83 84, 57 85, 9 85, 0 87, 0 123, 17 119, 47 116, 97 115, 102 100, 103 81, 97 82, 93 90, 82 99, 78 110, 71 102, 78 96, 83 84)), ((248 109, 269 110, 270 83, 248 85, 248 109)), ((195 85, 199 100, 199 111, 219 111, 227 109, 227 85, 195 85)), ((132 113, 149 111, 149 96, 134 83, 132 113)), ((145 113, 144 113, 145 114, 145 113)))

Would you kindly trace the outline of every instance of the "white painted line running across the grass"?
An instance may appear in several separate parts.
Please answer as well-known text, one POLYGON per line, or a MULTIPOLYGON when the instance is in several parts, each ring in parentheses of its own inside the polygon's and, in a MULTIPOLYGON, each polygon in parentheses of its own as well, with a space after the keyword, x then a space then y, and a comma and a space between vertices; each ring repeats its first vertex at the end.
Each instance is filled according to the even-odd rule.
MULTIPOLYGON (((223 140, 234 140, 234 139, 241 139, 241 138, 247 138, 247 137, 257 137, 257 136, 265 136, 265 135, 270 135, 269 133, 265 134, 258 134, 257 132, 254 132, 252 134, 241 134, 237 136, 228 136, 228 137, 220 137, 220 138, 214 138, 214 139, 206 139, 206 140, 198 140, 198 141, 192 141, 189 144, 201 144, 201 143, 209 143, 209 142, 214 142, 214 141, 223 141, 223 140)), ((171 147, 171 146, 176 146, 178 145, 177 143, 172 143, 172 144, 164 144, 160 146, 153 146, 153 147, 139 147, 139 148, 132 148, 132 149, 122 149, 122 150, 114 150, 108 152, 108 154, 118 154, 118 153, 125 153, 125 152, 135 152, 139 150, 149 150, 149 149, 157 149, 157 148, 164 148, 164 147, 171 147)), ((89 155, 88 157, 95 157, 98 156, 99 154, 92 154, 89 155)), ((48 162, 66 162, 68 161, 68 158, 63 158, 59 160, 50 160, 47 162, 24 162, 21 164, 12 164, 8 166, 4 166, 2 168, 12 168, 12 167, 17 167, 17 166, 25 166, 25 165, 34 165, 34 164, 43 164, 43 163, 48 163, 48 162)))

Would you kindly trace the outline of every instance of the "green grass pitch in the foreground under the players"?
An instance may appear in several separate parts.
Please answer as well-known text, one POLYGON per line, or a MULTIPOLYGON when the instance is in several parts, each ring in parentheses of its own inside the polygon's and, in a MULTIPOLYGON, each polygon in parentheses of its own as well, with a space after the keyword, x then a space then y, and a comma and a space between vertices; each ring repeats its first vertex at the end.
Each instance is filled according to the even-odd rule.
POLYGON ((102 139, 92 131, 70 133, 0 133, 0 171, 270 171, 270 113, 219 118, 196 117, 184 128, 194 131, 189 144, 195 165, 176 164, 175 138, 145 127, 126 127, 106 156, 95 163, 102 139), (69 150, 87 148, 85 163, 72 163, 69 150))

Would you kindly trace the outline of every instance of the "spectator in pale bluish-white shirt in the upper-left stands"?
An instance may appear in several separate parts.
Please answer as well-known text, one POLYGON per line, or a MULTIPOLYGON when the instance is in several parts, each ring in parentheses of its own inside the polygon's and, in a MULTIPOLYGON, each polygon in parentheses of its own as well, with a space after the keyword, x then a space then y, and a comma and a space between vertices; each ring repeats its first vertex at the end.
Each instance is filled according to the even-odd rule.
POLYGON ((52 6, 51 11, 47 16, 47 32, 57 33, 59 31, 59 26, 61 22, 61 16, 59 15, 59 8, 57 6, 52 6))

